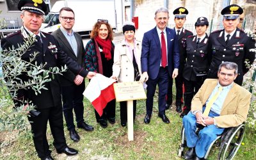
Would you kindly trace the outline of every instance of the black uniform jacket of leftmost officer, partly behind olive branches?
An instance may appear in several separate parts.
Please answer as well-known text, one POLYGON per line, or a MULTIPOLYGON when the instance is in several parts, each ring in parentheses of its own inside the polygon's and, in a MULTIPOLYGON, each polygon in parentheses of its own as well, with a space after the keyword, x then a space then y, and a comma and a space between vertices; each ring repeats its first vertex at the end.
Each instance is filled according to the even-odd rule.
MULTIPOLYGON (((38 65, 46 63, 45 69, 67 65, 67 67, 70 68, 72 72, 86 77, 88 71, 79 66, 76 61, 72 60, 72 58, 69 58, 67 54, 61 50, 52 35, 40 32, 40 36, 43 42, 43 49, 42 47, 39 47, 37 44, 38 42, 35 41, 31 47, 29 47, 29 49, 24 54, 22 54, 22 60, 29 61, 31 55, 34 52, 38 52, 38 56, 36 56, 32 63, 35 64, 35 61, 38 65)), ((22 27, 20 31, 17 31, 12 35, 8 35, 6 38, 3 38, 1 40, 1 47, 3 49, 9 49, 9 47, 12 48, 13 45, 15 48, 18 48, 18 44, 24 44, 24 40, 26 40, 26 38, 28 38, 28 32, 22 27)), ((17 92, 17 98, 29 101, 31 100, 32 103, 40 109, 60 105, 60 81, 57 77, 58 76, 55 76, 55 78, 50 82, 45 83, 45 88, 48 90, 41 90, 40 94, 38 93, 38 95, 35 95, 35 92, 31 88, 20 89, 17 92)), ((24 81, 28 81, 29 77, 26 76, 26 73, 24 73, 19 78, 24 81)), ((16 105, 20 106, 20 103, 16 105)))

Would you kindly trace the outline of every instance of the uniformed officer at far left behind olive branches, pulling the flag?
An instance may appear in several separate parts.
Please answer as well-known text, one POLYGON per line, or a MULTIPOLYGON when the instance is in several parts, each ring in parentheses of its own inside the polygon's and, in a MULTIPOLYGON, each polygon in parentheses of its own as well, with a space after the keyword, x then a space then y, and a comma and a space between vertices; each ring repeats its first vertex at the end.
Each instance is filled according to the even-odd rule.
MULTIPOLYGON (((44 20, 44 14, 47 11, 44 1, 20 0, 18 4, 20 18, 23 26, 20 31, 13 33, 1 40, 1 47, 3 50, 8 50, 14 46, 19 48, 19 44, 24 44, 31 36, 36 38, 36 41, 22 54, 23 61, 33 60, 34 52, 38 52, 31 63, 33 65, 45 65, 45 70, 50 70, 52 67, 60 67, 60 65, 67 65, 72 72, 76 73, 77 83, 81 83, 84 77, 92 78, 95 76, 94 72, 88 72, 83 67, 79 66, 76 61, 69 58, 67 54, 61 50, 60 46, 52 35, 42 33, 39 28, 44 20)), ((49 75, 52 77, 52 75, 49 75)), ((19 76, 22 81, 28 81, 31 77, 24 72, 19 76)), ((65 135, 63 131, 63 115, 61 105, 60 82, 58 77, 51 79, 51 81, 44 83, 47 90, 40 90, 41 93, 36 95, 35 91, 28 88, 22 88, 17 91, 17 99, 19 101, 32 102, 38 115, 28 116, 33 133, 33 141, 36 152, 40 159, 52 159, 51 150, 46 137, 47 122, 49 121, 52 136, 54 138, 53 145, 58 154, 65 153, 67 155, 77 154, 77 150, 67 146, 65 135)), ((17 100, 14 100, 15 106, 20 107, 17 100)), ((29 104, 25 104, 28 106, 29 104)))

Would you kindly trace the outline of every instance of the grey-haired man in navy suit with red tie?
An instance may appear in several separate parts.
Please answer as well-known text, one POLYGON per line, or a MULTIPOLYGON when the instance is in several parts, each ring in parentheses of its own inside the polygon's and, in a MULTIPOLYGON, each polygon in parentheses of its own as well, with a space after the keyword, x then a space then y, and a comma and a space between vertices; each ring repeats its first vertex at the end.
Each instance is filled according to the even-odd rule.
POLYGON ((160 8, 155 13, 156 27, 147 31, 142 40, 141 50, 141 81, 147 81, 147 115, 145 124, 150 123, 153 108, 153 98, 156 85, 159 87, 158 116, 168 124, 170 120, 165 115, 166 94, 169 77, 177 77, 179 68, 179 45, 173 29, 166 28, 169 12, 160 8))

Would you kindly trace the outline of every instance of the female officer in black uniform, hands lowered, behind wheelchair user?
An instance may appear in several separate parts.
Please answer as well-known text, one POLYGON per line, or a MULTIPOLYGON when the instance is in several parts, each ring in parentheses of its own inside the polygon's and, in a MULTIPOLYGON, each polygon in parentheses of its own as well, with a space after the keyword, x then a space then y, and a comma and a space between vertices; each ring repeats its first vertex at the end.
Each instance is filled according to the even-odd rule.
POLYGON ((207 77, 210 61, 207 52, 209 39, 205 31, 208 26, 207 18, 199 17, 195 23, 196 35, 188 36, 186 40, 187 61, 183 71, 185 84, 184 109, 180 117, 187 115, 191 110, 191 100, 207 77))

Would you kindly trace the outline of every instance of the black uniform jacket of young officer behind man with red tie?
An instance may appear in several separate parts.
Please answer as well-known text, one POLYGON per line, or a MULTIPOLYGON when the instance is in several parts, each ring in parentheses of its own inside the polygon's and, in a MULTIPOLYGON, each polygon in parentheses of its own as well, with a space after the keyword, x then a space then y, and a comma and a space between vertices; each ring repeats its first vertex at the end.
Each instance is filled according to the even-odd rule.
MULTIPOLYGON (((175 28, 173 28, 175 29, 175 28)), ((180 34, 177 35, 179 41, 179 49, 180 49, 180 65, 179 65, 179 74, 182 74, 184 65, 186 63, 186 40, 188 36, 192 36, 193 33, 188 31, 187 29, 182 28, 180 34)))

